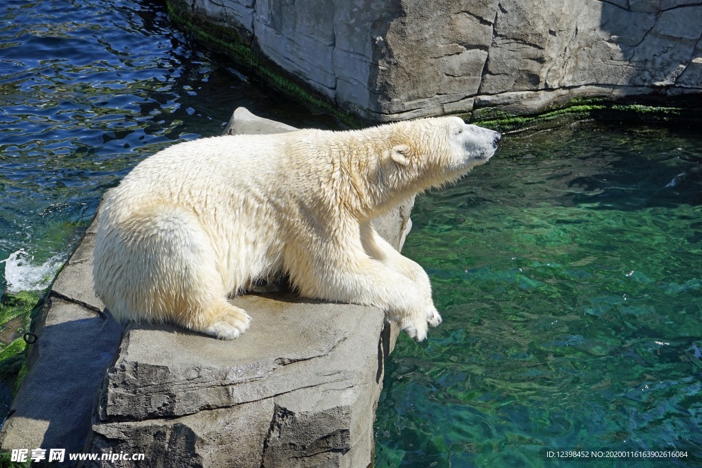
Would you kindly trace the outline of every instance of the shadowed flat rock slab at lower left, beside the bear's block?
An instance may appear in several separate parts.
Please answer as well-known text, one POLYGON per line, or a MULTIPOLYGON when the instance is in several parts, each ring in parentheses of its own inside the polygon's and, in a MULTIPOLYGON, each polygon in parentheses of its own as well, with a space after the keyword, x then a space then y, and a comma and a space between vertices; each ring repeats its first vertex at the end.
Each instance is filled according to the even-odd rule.
POLYGON ((119 346, 122 326, 75 302, 52 297, 34 333, 29 373, 0 432, 0 447, 80 452, 91 408, 119 346))

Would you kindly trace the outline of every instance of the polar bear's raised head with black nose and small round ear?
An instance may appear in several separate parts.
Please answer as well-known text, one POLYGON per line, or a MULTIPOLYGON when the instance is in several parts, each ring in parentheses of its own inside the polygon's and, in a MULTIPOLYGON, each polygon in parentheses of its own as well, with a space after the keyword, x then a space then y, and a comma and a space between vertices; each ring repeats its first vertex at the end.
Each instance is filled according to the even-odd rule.
POLYGON ((452 182, 486 163, 501 135, 465 123, 459 117, 439 117, 393 124, 392 149, 385 175, 395 187, 421 191, 452 182), (394 167, 392 167, 394 166, 394 167))

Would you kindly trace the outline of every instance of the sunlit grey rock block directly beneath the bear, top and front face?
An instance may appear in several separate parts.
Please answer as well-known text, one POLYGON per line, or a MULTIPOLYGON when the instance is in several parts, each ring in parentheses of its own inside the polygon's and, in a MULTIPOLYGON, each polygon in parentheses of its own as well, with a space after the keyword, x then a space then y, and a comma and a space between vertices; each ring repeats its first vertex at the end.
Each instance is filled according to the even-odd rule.
POLYGON ((130 326, 86 451, 150 454, 124 466, 176 456, 207 467, 367 466, 392 346, 383 314, 291 295, 234 303, 253 325, 231 342, 130 326), (155 446, 157 433, 176 446, 155 446))

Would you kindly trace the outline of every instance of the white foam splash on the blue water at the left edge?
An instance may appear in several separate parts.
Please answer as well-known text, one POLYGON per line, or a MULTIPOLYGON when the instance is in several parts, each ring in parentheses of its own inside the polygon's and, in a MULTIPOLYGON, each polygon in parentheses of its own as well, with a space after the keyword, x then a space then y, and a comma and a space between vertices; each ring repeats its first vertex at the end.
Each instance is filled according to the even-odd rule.
POLYGON ((63 255, 54 255, 41 265, 34 261, 34 255, 30 255, 23 248, 11 253, 5 260, 5 280, 7 290, 10 293, 20 291, 44 290, 48 288, 56 276, 56 272, 65 262, 63 255))

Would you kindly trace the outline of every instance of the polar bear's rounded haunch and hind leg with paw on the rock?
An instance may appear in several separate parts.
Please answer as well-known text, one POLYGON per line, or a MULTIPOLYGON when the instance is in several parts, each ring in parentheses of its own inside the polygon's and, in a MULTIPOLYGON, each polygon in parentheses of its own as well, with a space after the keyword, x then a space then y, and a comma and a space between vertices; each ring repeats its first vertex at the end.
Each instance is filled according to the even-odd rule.
POLYGON ((249 327, 246 312, 226 300, 197 215, 163 204, 125 211, 106 203, 93 262, 95 293, 115 319, 174 322, 222 339, 249 327))

